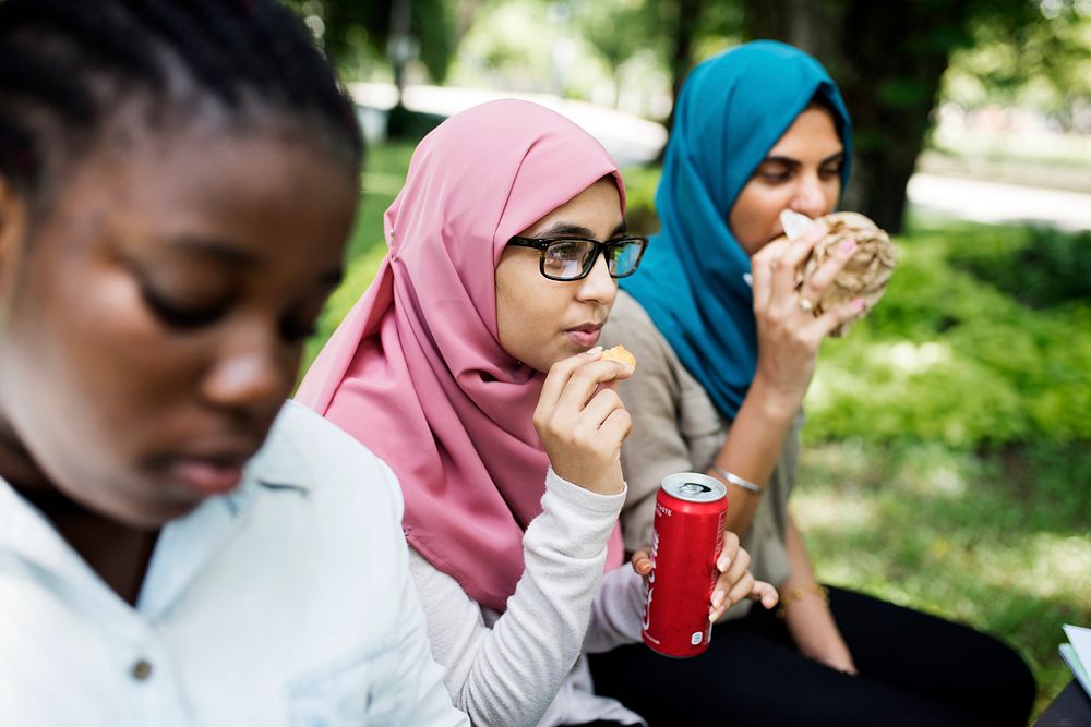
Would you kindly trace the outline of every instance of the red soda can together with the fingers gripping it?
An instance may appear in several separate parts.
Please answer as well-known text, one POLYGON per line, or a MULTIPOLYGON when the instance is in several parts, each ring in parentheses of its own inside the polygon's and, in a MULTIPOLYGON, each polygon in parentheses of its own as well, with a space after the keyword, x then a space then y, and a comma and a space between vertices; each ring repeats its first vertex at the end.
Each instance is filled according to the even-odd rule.
POLYGON ((648 581, 644 642, 660 654, 684 658, 704 652, 714 617, 743 597, 760 599, 766 608, 777 604, 776 589, 754 580, 746 570, 750 554, 733 533, 724 533, 727 509, 727 488, 719 480, 696 472, 663 478, 650 562, 643 552, 633 557, 634 568, 648 581), (733 554, 730 560, 724 542, 733 554), (719 603, 710 608, 714 590, 719 603))

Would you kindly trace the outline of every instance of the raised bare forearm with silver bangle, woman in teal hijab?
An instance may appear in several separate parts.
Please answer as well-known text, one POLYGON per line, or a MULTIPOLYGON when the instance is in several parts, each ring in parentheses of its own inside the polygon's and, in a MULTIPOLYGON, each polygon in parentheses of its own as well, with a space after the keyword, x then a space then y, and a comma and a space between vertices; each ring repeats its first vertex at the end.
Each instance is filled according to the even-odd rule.
POLYGON ((727 529, 740 536, 750 529, 764 494, 729 483, 721 470, 756 485, 767 485, 777 468, 796 409, 781 402, 767 390, 760 378, 755 378, 728 438, 712 460, 708 474, 728 484, 731 507, 728 508, 727 529))

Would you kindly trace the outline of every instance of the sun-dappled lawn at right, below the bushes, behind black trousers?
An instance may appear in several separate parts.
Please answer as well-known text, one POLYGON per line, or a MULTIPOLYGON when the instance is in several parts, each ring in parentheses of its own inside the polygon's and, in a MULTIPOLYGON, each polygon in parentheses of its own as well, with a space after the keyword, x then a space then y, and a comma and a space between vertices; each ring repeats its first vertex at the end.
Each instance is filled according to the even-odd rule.
POLYGON ((792 508, 825 582, 1015 646, 1039 713, 1071 679, 1062 623, 1091 623, 1091 445, 974 455, 859 440, 804 449, 792 508))

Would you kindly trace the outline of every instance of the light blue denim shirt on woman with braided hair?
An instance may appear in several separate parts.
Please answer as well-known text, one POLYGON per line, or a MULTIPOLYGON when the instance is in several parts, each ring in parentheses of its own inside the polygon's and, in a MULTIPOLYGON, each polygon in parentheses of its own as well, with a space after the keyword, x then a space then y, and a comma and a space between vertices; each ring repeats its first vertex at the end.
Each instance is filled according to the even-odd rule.
POLYGON ((0 725, 466 725, 391 470, 289 402, 230 495, 161 532, 136 608, 0 480, 0 725))

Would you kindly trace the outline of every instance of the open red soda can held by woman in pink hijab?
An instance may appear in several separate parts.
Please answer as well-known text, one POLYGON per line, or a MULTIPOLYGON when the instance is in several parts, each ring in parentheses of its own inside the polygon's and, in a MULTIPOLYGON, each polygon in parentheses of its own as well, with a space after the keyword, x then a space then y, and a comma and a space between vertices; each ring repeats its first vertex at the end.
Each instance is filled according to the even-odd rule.
POLYGON ((667 656, 708 649, 708 608, 723 549, 728 488, 696 472, 663 477, 656 496, 651 574, 644 602, 644 643, 667 656))

